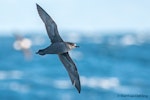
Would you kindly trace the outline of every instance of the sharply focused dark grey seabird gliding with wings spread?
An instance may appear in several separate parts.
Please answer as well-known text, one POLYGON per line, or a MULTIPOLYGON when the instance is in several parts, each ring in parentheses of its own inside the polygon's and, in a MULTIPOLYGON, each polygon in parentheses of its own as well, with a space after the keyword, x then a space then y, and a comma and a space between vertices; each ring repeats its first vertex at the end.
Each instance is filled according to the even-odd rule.
POLYGON ((61 62, 65 66, 66 70, 68 71, 72 84, 77 88, 78 92, 80 93, 81 86, 80 86, 79 74, 75 63, 70 58, 68 53, 73 48, 79 46, 77 46, 75 43, 64 42, 58 33, 57 25, 53 21, 53 19, 38 4, 37 4, 37 10, 46 26, 48 36, 52 43, 47 48, 39 50, 37 54, 39 55, 58 54, 61 62))

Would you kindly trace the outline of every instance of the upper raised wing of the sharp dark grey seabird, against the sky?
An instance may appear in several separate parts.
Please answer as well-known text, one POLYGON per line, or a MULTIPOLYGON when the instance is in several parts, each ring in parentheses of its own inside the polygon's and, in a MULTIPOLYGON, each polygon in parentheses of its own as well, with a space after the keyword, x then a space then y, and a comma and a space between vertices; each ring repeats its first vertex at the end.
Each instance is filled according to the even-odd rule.
POLYGON ((49 38, 51 39, 51 42, 63 42, 62 38, 58 33, 57 25, 54 20, 38 4, 36 5, 38 13, 46 26, 46 30, 49 38))

